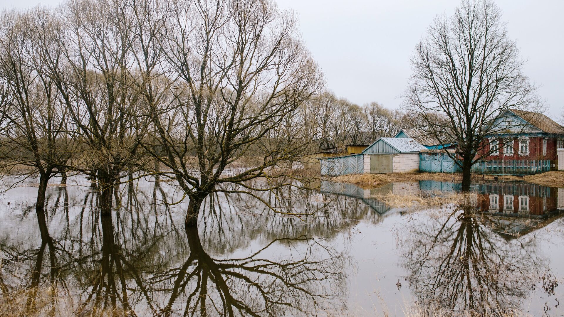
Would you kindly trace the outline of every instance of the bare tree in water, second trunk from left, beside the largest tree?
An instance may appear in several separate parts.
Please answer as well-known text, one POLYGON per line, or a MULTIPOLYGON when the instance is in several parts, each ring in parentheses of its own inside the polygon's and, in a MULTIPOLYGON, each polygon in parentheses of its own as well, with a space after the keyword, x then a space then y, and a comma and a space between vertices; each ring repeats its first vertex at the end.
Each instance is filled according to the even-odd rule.
POLYGON ((39 47, 56 46, 61 52, 60 58, 45 59, 83 153, 67 167, 98 180, 104 215, 111 214, 120 178, 131 174, 133 162, 142 160, 140 142, 148 127, 132 84, 133 48, 139 43, 124 21, 126 5, 69 1, 60 16, 64 25, 60 32, 38 42, 39 47))

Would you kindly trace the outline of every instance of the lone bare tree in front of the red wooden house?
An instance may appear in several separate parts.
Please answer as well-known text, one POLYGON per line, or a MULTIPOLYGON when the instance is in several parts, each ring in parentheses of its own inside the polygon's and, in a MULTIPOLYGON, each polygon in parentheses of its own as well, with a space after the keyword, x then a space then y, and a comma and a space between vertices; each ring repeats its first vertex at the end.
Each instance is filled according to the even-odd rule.
POLYGON ((465 0, 452 17, 435 19, 411 63, 405 107, 443 145, 455 139, 462 158, 455 162, 468 190, 472 165, 481 160, 478 151, 487 149, 486 136, 510 128, 499 124, 500 116, 537 104, 500 9, 490 0, 465 0))

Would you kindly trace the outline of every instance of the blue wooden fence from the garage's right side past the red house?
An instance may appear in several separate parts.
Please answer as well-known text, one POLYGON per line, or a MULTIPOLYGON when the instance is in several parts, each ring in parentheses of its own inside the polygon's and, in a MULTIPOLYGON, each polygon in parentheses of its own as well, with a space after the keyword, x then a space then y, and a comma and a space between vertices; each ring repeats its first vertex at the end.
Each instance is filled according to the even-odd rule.
MULTIPOLYGON (((461 173, 462 168, 455 164, 446 153, 421 153, 419 170, 432 173, 461 173)), ((460 160, 457 160, 461 163, 460 160)), ((556 167, 550 160, 491 160, 472 165, 472 173, 497 175, 526 175, 544 173, 556 167)))

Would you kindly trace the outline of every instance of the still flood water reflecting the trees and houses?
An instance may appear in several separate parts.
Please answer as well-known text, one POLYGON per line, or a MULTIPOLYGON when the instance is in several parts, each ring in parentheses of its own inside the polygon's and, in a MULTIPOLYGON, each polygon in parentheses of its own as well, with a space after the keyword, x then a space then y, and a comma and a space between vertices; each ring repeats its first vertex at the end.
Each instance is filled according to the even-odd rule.
POLYGON ((108 219, 83 178, 50 186, 45 213, 30 181, 0 200, 0 305, 21 293, 55 316, 564 315, 564 189, 474 184, 466 208, 374 198, 458 188, 322 182, 256 193, 279 212, 309 214, 301 218, 221 193, 187 231, 182 194, 165 182, 122 185, 108 219))

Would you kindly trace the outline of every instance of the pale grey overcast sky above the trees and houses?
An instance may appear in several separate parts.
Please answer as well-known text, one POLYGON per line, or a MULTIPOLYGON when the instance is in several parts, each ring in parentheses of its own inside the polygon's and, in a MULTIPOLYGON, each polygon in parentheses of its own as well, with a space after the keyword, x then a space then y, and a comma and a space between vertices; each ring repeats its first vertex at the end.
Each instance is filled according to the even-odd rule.
MULTIPOLYGON (((409 56, 439 14, 456 0, 276 0, 299 16, 303 41, 325 73, 327 86, 354 103, 398 108, 411 75, 409 56)), ((0 0, 1 8, 27 8, 60 0, 0 0)), ((564 1, 498 0, 509 36, 527 59, 525 74, 539 85, 557 118, 564 109, 564 1)))

